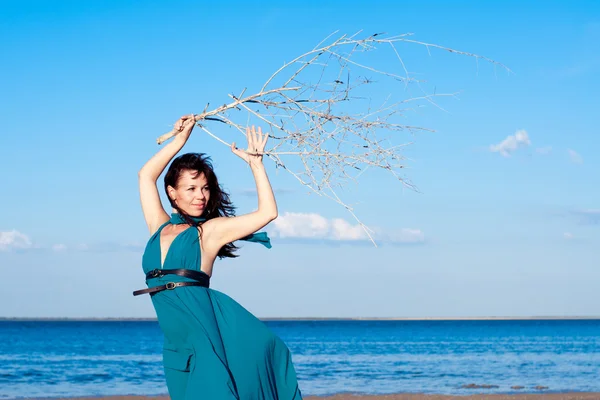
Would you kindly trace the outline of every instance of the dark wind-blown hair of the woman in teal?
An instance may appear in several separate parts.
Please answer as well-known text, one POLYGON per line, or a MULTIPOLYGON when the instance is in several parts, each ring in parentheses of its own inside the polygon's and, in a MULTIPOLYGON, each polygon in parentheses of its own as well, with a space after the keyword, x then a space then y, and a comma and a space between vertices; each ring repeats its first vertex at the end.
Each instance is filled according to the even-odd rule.
MULTIPOLYGON (((219 185, 210 157, 203 153, 186 153, 175 158, 169 166, 169 169, 165 174, 165 192, 167 193, 167 198, 169 199, 171 206, 181 214, 187 223, 200 228, 200 231, 202 232, 203 221, 194 221, 189 215, 177 207, 175 202, 169 197, 167 190, 169 186, 173 188, 177 187, 179 178, 184 171, 196 171, 194 178, 201 173, 206 177, 210 197, 201 216, 204 220, 217 217, 232 217, 235 215, 235 207, 229 199, 229 194, 219 185)), ((237 257, 237 255, 234 254, 235 250, 237 250, 237 247, 233 243, 227 243, 221 247, 217 257, 237 257)))

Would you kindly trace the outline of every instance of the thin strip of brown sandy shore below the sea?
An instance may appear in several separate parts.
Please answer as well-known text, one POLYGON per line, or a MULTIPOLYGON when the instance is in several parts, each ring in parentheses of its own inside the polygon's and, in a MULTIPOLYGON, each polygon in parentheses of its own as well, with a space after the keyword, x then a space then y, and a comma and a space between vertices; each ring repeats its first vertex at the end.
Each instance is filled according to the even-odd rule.
MULTIPOLYGON (((65 400, 169 400, 168 396, 108 396, 78 397, 65 400)), ((305 400, 600 400, 600 393, 539 393, 539 394, 473 394, 467 396, 390 394, 390 395, 351 395, 338 394, 328 397, 309 396, 305 400)))

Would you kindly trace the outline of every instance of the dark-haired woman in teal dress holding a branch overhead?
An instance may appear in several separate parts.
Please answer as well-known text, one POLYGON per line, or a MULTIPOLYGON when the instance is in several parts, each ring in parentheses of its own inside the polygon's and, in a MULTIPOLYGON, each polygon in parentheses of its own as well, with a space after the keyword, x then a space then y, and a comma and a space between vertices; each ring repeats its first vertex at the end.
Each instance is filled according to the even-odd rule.
POLYGON ((277 204, 262 164, 268 135, 247 129, 248 149, 231 151, 252 170, 258 210, 233 215, 209 159, 198 153, 177 157, 165 175, 173 213, 162 207, 156 182, 188 140, 196 121, 184 116, 178 135, 139 172, 140 197, 150 240, 142 267, 164 333, 163 364, 173 400, 300 400, 291 354, 267 326, 227 295, 209 288, 217 257, 235 257, 233 242, 271 247, 255 233, 277 217, 277 204))

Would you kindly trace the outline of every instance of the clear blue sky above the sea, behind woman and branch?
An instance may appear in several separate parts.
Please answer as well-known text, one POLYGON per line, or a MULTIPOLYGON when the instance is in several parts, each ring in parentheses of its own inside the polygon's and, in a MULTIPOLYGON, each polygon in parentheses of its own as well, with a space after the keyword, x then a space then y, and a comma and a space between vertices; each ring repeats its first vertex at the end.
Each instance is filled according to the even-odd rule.
MULTIPOLYGON (((274 246, 218 261, 213 287, 260 317, 600 315, 600 5, 369 4, 0 2, 0 316, 152 317, 131 291, 148 238, 137 171, 155 139, 361 29, 412 32, 512 73, 403 47, 428 89, 459 93, 407 115, 435 130, 399 138, 414 142, 406 176, 419 192, 375 171, 338 192, 394 243, 375 248, 346 210, 266 161, 274 246)), ((211 154, 239 213, 256 207, 225 146, 196 130, 184 151, 211 154)))

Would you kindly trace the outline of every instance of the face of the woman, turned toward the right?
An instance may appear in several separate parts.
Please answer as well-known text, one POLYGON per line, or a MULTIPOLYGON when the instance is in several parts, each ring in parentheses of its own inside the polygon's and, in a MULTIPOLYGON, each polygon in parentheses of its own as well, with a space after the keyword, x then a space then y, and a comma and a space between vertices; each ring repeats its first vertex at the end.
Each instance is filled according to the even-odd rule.
POLYGON ((169 196, 186 214, 192 217, 201 216, 210 199, 208 181, 204 173, 183 171, 177 181, 177 187, 169 186, 169 196))

